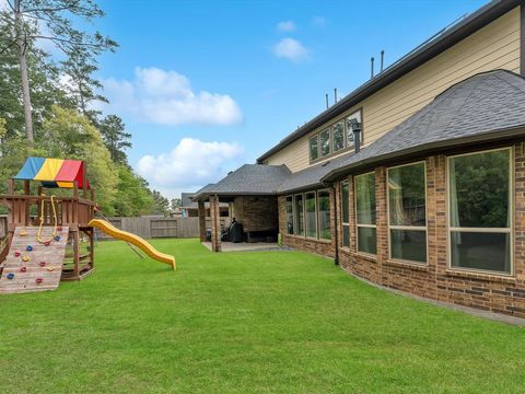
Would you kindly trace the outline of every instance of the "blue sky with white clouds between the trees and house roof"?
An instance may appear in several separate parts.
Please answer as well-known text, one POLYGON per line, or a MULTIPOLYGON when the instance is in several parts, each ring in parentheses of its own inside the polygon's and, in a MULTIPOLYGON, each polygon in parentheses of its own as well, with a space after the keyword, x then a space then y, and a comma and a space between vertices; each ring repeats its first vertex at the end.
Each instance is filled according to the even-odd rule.
POLYGON ((132 132, 133 167, 168 197, 253 163, 483 0, 101 0, 120 48, 98 77, 132 132))

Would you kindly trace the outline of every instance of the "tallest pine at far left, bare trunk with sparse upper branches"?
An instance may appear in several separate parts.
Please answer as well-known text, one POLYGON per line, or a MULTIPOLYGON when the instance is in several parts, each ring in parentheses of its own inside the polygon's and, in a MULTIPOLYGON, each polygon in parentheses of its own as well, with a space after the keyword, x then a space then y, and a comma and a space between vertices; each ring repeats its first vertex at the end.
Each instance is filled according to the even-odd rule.
POLYGON ((33 141, 33 117, 27 66, 30 46, 27 44, 33 39, 50 40, 68 57, 75 53, 83 53, 88 59, 93 59, 105 50, 114 50, 117 44, 98 32, 90 34, 73 27, 73 21, 77 19, 91 22, 93 19, 104 15, 104 12, 93 0, 7 0, 7 4, 11 13, 5 13, 4 19, 9 24, 11 35, 8 40, 3 40, 3 47, 0 51, 12 46, 16 47, 24 106, 25 135, 30 141, 33 141))

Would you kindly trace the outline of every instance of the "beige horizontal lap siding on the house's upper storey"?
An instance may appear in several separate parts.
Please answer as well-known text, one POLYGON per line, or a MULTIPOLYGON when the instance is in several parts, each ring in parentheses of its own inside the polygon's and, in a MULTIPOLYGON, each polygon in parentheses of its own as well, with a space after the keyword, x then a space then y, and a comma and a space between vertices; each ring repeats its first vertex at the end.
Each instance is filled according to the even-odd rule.
MULTIPOLYGON (((362 107, 366 146, 429 104, 451 85, 476 73, 494 69, 520 72, 520 8, 383 88, 310 135, 362 107)), ((307 167, 310 135, 276 152, 268 158, 267 163, 287 164, 292 172, 307 167)))

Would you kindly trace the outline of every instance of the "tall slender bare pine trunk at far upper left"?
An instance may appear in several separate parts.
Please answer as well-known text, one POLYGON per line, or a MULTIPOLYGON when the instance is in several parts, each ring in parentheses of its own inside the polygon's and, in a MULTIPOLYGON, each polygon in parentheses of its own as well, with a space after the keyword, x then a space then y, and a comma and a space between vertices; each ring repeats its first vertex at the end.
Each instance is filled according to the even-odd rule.
POLYGON ((22 101, 24 103, 25 135, 33 142, 33 118, 30 94, 30 77, 27 73, 27 59, 25 57, 26 37, 23 28, 22 14, 20 13, 20 0, 14 2, 14 21, 16 30, 16 48, 19 57, 20 76, 22 80, 22 101))

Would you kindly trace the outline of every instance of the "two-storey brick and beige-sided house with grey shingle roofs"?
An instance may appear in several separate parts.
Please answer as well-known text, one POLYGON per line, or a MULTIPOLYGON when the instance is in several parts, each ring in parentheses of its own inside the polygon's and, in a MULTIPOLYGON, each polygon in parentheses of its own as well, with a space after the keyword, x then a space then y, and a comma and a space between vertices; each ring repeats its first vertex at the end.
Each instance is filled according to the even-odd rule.
POLYGON ((524 76, 525 1, 491 1, 198 190, 212 248, 225 201, 357 277, 525 317, 524 76))

